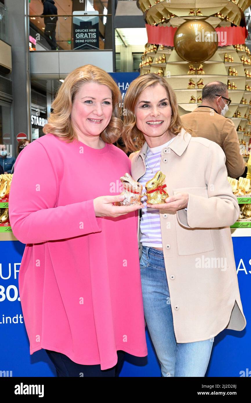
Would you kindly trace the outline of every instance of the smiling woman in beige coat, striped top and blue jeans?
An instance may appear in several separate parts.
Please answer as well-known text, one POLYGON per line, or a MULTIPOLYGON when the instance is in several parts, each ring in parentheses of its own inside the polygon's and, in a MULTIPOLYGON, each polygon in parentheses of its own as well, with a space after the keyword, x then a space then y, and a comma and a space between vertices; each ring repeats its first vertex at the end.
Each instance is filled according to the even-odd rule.
POLYGON ((175 93, 156 74, 130 84, 124 108, 123 141, 141 148, 132 176, 144 192, 154 177, 149 197, 166 195, 161 204, 144 198, 138 225, 144 315, 161 374, 205 376, 214 337, 246 326, 229 228, 240 210, 225 154, 181 126, 175 93))

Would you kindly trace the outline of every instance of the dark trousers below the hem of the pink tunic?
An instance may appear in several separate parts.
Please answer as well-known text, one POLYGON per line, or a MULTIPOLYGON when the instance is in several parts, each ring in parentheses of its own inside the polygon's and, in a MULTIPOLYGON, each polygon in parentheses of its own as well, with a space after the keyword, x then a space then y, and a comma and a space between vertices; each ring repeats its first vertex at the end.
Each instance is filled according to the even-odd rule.
POLYGON ((56 368, 57 376, 75 376, 78 378, 86 376, 119 376, 119 372, 123 366, 125 352, 117 351, 118 362, 113 368, 101 370, 100 364, 82 365, 71 361, 67 355, 58 353, 57 351, 45 350, 48 357, 56 368))

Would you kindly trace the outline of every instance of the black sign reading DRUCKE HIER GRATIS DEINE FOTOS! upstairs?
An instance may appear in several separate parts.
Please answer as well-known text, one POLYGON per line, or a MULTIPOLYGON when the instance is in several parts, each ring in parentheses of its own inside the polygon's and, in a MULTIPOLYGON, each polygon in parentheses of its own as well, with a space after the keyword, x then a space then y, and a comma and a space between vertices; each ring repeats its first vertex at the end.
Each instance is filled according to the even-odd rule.
POLYGON ((93 14, 98 11, 73 11, 73 49, 99 49, 98 16, 93 14))

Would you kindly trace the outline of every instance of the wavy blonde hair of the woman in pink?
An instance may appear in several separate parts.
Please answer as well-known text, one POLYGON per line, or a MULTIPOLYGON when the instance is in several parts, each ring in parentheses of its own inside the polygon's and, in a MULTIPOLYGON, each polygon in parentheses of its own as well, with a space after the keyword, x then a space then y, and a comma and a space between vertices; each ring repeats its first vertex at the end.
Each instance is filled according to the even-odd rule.
POLYGON ((113 78, 103 69, 86 64, 71 71, 59 88, 54 101, 51 104, 53 112, 44 125, 45 134, 52 133, 67 142, 77 138, 71 124, 71 110, 76 93, 86 83, 107 85, 111 89, 113 112, 111 120, 105 130, 100 134, 106 143, 115 143, 121 135, 121 92, 113 78))

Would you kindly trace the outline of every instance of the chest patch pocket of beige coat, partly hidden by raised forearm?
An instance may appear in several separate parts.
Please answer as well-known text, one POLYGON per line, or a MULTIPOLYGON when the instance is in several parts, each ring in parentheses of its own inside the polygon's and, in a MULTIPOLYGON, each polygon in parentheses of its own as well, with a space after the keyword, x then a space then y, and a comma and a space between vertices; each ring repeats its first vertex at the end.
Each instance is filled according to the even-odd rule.
MULTIPOLYGON (((207 187, 182 187, 174 189, 174 195, 179 192, 191 193, 208 198, 207 187)), ((176 216, 176 239, 178 255, 187 256, 214 250, 213 237, 209 228, 187 228, 182 226, 176 216)))

